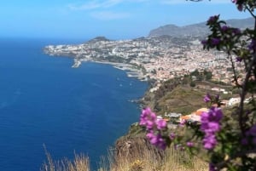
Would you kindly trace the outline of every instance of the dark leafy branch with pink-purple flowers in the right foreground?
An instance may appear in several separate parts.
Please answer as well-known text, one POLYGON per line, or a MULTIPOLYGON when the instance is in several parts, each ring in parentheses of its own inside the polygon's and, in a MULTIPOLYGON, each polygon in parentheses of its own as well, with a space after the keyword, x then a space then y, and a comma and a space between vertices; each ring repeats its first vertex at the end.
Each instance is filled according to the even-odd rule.
MULTIPOLYGON (((202 0, 190 0, 199 2, 202 0)), ((227 26, 223 20, 218 20, 215 15, 207 20, 210 34, 206 40, 201 41, 204 48, 216 48, 228 54, 236 87, 240 91, 240 103, 236 110, 236 116, 224 115, 220 108, 219 96, 213 97, 207 94, 204 101, 207 104, 218 104, 212 106, 209 111, 201 114, 201 121, 195 125, 181 123, 180 127, 191 128, 194 131, 192 138, 180 134, 168 132, 166 122, 157 120, 155 114, 146 108, 141 115, 140 125, 146 127, 147 137, 151 144, 165 149, 171 143, 193 149, 195 142, 201 140, 203 147, 208 151, 210 157, 210 171, 217 171, 222 168, 228 170, 256 170, 256 15, 253 14, 256 8, 255 0, 232 0, 236 3, 239 11, 248 10, 254 18, 254 28, 241 31, 237 28, 227 26), (238 72, 232 55, 235 54, 237 62, 243 60, 244 79, 238 83, 238 72), (245 105, 247 94, 251 94, 251 100, 245 105), (232 123, 226 122, 231 120, 232 123), (186 127, 187 126, 187 127, 186 127), (167 134, 167 135, 166 135, 167 134), (186 141, 184 141, 184 139, 186 141), (240 163, 239 163, 240 162, 240 163)), ((193 153, 193 151, 191 151, 193 153)))

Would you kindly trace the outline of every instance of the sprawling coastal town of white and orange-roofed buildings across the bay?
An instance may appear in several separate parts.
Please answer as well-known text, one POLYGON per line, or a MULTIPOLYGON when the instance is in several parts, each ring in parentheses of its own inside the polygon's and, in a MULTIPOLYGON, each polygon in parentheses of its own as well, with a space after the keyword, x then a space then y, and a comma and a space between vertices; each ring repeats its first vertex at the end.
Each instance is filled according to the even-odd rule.
MULTIPOLYGON (((137 77, 158 81, 206 69, 212 71, 212 79, 230 83, 233 74, 227 56, 204 50, 198 37, 142 37, 119 41, 96 37, 78 45, 49 45, 44 51, 73 57, 74 67, 79 67, 84 60, 123 63, 126 66, 120 69, 136 71, 137 77)), ((236 69, 241 71, 241 65, 237 64, 236 69)))

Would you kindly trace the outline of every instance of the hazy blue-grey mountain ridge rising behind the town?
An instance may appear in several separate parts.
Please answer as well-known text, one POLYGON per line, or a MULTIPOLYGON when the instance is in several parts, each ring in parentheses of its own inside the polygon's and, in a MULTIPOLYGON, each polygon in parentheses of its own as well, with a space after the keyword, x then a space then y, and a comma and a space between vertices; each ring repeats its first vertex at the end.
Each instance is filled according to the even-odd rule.
MULTIPOLYGON (((253 28, 253 24, 254 24, 253 18, 226 20, 226 23, 229 26, 238 27, 241 29, 245 29, 247 27, 253 28)), ((175 26, 171 24, 166 26, 160 26, 150 31, 148 37, 160 37, 163 35, 168 35, 172 37, 181 37, 181 36, 204 37, 207 35, 208 32, 209 30, 208 30, 208 27, 206 26, 206 22, 201 22, 201 23, 188 25, 188 26, 175 26)))

